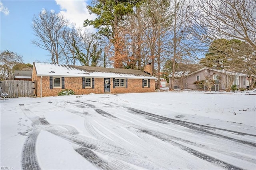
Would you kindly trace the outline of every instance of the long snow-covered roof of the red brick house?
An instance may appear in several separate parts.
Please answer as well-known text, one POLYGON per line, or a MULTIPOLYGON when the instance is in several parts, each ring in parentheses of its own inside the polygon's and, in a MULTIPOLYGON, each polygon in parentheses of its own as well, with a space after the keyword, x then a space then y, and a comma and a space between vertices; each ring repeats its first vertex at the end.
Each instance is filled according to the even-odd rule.
POLYGON ((34 63, 37 76, 157 79, 141 71, 121 68, 34 63))

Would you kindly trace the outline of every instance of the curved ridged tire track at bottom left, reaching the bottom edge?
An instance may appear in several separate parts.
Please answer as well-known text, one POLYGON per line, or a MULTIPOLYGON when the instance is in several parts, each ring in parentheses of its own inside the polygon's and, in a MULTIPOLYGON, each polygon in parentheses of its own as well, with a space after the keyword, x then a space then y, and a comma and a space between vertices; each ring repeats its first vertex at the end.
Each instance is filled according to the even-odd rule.
POLYGON ((40 130, 31 132, 24 144, 22 152, 22 169, 23 170, 40 170, 36 156, 36 139, 40 130))

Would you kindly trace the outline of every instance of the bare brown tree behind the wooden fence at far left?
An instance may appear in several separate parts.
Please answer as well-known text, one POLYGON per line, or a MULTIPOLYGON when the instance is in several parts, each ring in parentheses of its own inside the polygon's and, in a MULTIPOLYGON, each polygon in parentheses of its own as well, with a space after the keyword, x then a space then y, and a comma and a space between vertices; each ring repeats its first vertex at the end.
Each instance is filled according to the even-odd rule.
POLYGON ((13 67, 22 63, 22 56, 12 51, 2 51, 0 53, 0 80, 13 78, 13 67))

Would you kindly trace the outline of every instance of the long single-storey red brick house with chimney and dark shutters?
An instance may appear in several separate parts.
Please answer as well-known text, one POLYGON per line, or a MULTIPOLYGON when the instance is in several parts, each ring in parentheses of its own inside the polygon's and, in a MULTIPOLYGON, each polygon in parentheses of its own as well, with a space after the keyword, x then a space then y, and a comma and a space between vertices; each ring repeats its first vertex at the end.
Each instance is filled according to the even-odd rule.
MULTIPOLYGON (((145 66, 147 72, 150 68, 145 66)), ((75 94, 154 92, 157 78, 141 70, 34 63, 32 80, 36 96, 44 97, 63 89, 75 94)))

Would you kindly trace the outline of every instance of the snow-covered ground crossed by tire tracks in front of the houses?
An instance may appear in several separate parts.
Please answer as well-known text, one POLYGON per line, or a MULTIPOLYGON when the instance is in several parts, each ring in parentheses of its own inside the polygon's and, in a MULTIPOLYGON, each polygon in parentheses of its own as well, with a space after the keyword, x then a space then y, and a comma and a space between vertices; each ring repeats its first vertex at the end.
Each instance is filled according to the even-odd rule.
POLYGON ((255 94, 8 98, 0 101, 0 166, 256 169, 255 94))

